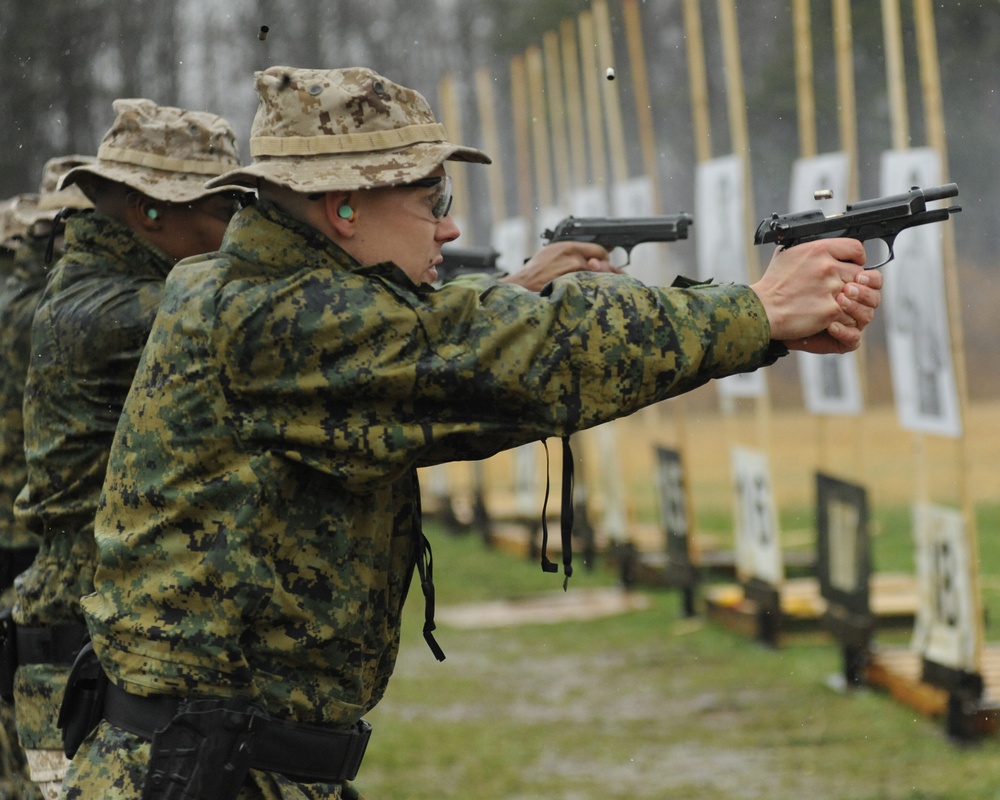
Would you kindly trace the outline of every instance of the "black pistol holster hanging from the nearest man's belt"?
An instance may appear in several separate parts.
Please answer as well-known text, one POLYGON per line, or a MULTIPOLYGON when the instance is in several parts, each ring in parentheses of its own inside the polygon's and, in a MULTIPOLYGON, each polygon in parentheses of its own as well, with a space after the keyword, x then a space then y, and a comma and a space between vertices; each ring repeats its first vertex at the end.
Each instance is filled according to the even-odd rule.
POLYGON ((250 770, 247 698, 192 700, 153 734, 142 800, 235 800, 250 770))

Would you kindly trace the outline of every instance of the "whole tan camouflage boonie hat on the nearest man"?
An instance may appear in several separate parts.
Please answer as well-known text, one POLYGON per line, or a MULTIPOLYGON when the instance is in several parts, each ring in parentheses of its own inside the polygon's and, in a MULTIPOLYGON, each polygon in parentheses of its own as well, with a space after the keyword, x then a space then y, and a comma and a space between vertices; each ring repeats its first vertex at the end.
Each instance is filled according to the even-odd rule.
POLYGON ((253 163, 210 186, 263 178, 297 192, 355 191, 426 178, 448 160, 490 163, 447 141, 423 95, 370 69, 270 67, 255 78, 253 163))

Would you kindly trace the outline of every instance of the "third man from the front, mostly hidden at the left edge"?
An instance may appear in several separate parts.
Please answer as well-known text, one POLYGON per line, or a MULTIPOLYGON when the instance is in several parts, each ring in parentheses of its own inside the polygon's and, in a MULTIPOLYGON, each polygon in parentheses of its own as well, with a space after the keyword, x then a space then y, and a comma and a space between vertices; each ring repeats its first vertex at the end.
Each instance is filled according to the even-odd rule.
MULTIPOLYGON (((39 193, 22 195, 11 209, 11 216, 21 226, 23 234, 12 269, 0 286, 0 358, 3 359, 0 370, 0 549, 3 550, 0 584, 3 597, 0 607, 3 609, 13 608, 14 578, 31 564, 39 542, 37 531, 29 530, 14 518, 14 499, 24 486, 26 473, 22 407, 31 352, 31 321, 45 287, 49 261, 62 252, 63 213, 91 206, 75 186, 59 191, 59 179, 68 170, 89 160, 78 155, 49 159, 42 169, 39 193), (67 211, 62 212, 63 209, 67 211)), ((13 705, 3 703, 0 716, 5 738, 2 747, 4 772, 9 776, 11 796, 41 797, 40 789, 28 775, 16 733, 13 705)))

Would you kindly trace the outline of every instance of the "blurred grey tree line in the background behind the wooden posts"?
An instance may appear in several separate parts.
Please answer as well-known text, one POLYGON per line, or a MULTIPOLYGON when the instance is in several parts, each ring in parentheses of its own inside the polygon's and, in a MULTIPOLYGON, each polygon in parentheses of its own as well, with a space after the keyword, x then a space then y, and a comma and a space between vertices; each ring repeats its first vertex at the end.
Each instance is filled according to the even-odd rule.
MULTIPOLYGON (((712 149, 723 155, 729 151, 729 134, 717 2, 700 2, 712 149)), ((791 5, 791 0, 737 4, 755 211, 761 215, 791 210, 785 206, 798 152, 791 5)), ((851 4, 862 197, 877 194, 879 154, 891 144, 881 5, 872 0, 851 4)), ((682 6, 682 0, 640 0, 667 210, 693 206, 695 150, 682 6)), ((626 141, 636 142, 620 0, 608 0, 608 7, 626 141)), ((923 103, 912 3, 900 0, 900 7, 907 36, 910 132, 913 145, 920 146, 925 143, 923 103)), ((246 155, 256 106, 252 73, 274 64, 371 66, 420 89, 439 111, 439 81, 452 74, 462 101, 462 138, 470 143, 479 141, 473 74, 489 67, 501 145, 511 149, 511 57, 540 45, 546 31, 558 30, 564 19, 589 8, 589 0, 0 0, 0 198, 35 191, 41 167, 53 155, 94 153, 117 97, 149 97, 219 113, 233 123, 246 155), (263 25, 268 32, 262 40, 263 25)), ((812 0, 810 8, 822 152, 839 147, 831 2, 812 0)), ((1000 226, 991 213, 1000 206, 995 135, 1000 0, 937 2, 935 23, 949 177, 961 187, 964 207, 953 224, 963 269, 976 273, 963 282, 970 287, 967 344, 991 347, 998 323, 985 307, 988 292, 982 282, 994 280, 1000 249, 1000 226)), ((505 154, 493 155, 503 163, 505 154)), ((633 174, 642 169, 637 147, 628 159, 633 174)), ((477 213, 486 214, 481 208, 477 213)))

